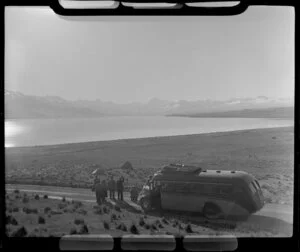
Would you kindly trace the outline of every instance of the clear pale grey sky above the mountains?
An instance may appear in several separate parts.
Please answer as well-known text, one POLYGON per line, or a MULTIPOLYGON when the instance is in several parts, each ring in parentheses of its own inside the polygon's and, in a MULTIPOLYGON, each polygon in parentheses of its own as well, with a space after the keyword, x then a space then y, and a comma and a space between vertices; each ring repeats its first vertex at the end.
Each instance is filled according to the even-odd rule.
POLYGON ((294 9, 63 17, 5 8, 5 89, 117 103, 294 97, 294 9))

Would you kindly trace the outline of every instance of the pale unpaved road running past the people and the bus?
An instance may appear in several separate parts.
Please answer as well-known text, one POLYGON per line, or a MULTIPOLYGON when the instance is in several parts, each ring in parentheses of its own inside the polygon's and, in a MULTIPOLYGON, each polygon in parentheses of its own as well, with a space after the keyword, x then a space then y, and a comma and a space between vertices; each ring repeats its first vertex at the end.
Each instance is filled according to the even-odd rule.
MULTIPOLYGON (((47 194, 48 197, 52 199, 61 199, 62 197, 65 197, 67 200, 73 199, 88 203, 96 203, 95 193, 89 189, 19 184, 6 185, 6 190, 8 192, 12 192, 15 189, 27 193, 36 193, 40 195, 47 194)), ((124 193, 124 200, 135 208, 140 208, 130 201, 129 193, 124 193)), ((293 207, 289 205, 266 204, 259 212, 251 215, 246 222, 252 225, 259 225, 263 229, 268 230, 278 228, 290 230, 293 224, 293 207)))

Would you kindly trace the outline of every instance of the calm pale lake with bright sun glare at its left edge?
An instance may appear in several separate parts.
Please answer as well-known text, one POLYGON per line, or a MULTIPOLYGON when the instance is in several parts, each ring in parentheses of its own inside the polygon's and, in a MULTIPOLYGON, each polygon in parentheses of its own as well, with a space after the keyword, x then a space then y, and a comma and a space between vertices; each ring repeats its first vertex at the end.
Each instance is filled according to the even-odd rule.
POLYGON ((5 147, 173 136, 293 126, 293 120, 262 118, 103 117, 5 121, 5 147))

